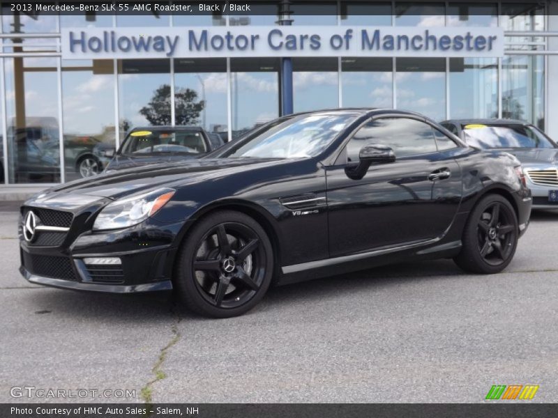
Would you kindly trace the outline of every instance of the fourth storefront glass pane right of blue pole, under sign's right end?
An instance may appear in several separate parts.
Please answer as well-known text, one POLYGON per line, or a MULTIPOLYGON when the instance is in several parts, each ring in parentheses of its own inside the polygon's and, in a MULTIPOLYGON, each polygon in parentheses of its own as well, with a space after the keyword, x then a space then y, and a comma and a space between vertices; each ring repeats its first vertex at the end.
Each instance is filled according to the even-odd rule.
POLYGON ((497 59, 452 58, 449 70, 449 117, 498 117, 497 59))

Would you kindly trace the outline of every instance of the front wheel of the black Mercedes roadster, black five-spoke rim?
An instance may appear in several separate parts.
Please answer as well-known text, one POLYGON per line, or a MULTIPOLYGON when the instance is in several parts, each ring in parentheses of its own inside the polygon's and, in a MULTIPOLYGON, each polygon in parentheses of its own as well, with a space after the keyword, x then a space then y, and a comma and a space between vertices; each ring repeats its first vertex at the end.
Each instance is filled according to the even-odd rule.
POLYGON ((230 318, 264 297, 273 277, 273 249, 262 226, 241 212, 202 218, 177 254, 174 287, 196 314, 230 318))

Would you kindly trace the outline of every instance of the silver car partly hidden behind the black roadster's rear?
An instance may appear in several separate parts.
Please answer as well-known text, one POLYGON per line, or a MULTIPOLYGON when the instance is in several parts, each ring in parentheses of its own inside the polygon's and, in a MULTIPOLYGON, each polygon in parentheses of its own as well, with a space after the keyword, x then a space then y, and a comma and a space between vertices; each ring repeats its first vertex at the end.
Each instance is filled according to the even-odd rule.
POLYGON ((507 151, 518 157, 533 208, 558 209, 558 146, 530 123, 512 119, 461 119, 441 123, 469 146, 507 151))

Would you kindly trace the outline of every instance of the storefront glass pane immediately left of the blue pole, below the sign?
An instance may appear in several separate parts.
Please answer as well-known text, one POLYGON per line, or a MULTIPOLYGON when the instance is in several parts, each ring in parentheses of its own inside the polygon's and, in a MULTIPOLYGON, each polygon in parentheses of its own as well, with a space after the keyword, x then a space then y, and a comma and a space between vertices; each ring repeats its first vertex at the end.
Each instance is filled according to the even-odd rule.
POLYGON ((231 59, 232 139, 279 116, 279 59, 231 59))

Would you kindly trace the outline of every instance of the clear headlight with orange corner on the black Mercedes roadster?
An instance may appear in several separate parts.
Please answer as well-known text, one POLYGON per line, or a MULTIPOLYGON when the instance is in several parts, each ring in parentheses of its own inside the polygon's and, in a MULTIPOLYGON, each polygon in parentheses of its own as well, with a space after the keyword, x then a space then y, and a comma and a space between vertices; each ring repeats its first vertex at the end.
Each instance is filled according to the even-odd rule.
POLYGON ((115 201, 100 211, 93 230, 120 229, 143 222, 165 206, 176 190, 164 188, 155 192, 115 201))

